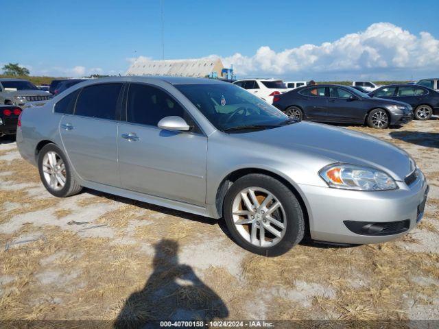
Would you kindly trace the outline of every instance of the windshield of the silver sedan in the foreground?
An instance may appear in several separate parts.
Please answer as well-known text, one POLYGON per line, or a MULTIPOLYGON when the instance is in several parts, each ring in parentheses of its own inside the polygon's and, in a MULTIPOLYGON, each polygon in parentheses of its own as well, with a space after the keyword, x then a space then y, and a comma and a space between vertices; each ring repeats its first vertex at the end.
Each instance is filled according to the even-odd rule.
POLYGON ((179 84, 175 87, 223 132, 289 123, 283 112, 233 84, 179 84))

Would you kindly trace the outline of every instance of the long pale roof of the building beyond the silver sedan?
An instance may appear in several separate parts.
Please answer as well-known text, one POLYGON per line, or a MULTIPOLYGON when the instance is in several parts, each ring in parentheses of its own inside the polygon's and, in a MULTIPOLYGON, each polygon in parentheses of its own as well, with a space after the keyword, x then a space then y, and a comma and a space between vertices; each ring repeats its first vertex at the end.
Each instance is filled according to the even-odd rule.
POLYGON ((147 60, 139 58, 126 75, 174 75, 178 77, 221 77, 224 66, 219 58, 193 60, 147 60))

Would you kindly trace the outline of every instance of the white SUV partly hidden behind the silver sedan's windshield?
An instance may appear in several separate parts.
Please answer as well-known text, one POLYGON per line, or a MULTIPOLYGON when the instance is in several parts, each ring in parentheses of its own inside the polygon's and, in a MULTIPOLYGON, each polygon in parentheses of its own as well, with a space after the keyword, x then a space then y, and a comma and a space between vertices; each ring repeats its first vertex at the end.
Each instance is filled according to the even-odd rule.
POLYGON ((267 103, 273 103, 274 95, 279 95, 288 91, 287 86, 282 80, 273 79, 248 79, 233 82, 237 86, 246 89, 248 92, 263 99, 267 103))

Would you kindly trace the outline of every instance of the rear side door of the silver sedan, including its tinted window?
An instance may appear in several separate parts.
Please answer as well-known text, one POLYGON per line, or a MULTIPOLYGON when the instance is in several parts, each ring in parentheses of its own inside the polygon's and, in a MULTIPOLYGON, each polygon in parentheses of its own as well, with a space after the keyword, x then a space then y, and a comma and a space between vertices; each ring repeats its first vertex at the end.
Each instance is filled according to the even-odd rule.
POLYGON ((60 120, 64 149, 83 180, 119 186, 116 109, 121 83, 80 90, 73 114, 60 120))

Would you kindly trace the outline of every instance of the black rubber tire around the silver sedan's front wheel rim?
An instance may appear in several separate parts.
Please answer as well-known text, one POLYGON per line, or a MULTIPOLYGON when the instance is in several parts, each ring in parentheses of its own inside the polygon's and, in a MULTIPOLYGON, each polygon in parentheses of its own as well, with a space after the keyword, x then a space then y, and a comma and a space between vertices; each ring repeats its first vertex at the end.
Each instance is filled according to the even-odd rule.
POLYGON ((224 199, 224 219, 230 234, 238 245, 254 254, 263 256, 279 256, 285 254, 285 252, 294 247, 294 245, 298 244, 305 234, 305 219, 302 207, 296 195, 275 178, 260 173, 245 175, 230 186, 224 199), (232 215, 233 201, 238 193, 250 186, 257 186, 270 191, 270 193, 281 202, 285 210, 284 220, 287 222, 285 234, 282 239, 273 246, 258 247, 253 245, 239 234, 235 226, 232 215))

